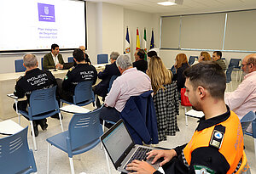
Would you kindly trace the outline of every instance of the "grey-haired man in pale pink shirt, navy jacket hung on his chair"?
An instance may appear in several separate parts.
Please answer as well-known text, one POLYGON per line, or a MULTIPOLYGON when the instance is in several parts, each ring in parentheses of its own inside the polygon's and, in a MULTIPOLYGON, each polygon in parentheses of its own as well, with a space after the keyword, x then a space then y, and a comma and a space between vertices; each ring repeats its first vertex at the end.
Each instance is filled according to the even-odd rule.
POLYGON ((152 89, 148 75, 133 68, 128 55, 119 55, 116 64, 121 76, 113 81, 100 114, 102 120, 114 122, 119 121, 120 112, 131 96, 138 96, 152 89))

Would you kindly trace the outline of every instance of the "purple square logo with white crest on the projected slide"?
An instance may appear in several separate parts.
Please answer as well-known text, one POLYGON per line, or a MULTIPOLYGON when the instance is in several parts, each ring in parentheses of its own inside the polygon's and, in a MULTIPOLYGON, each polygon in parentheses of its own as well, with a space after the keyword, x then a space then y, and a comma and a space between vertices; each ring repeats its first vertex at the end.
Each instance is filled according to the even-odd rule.
POLYGON ((39 21, 55 22, 55 6, 45 3, 38 3, 39 21))

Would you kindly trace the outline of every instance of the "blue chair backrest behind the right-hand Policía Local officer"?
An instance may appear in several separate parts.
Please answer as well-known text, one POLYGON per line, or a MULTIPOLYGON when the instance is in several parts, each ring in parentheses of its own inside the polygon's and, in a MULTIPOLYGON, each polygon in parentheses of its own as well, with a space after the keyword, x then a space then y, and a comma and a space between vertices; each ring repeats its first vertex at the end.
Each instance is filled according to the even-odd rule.
MULTIPOLYGON (((82 81, 75 87, 73 95, 73 104, 90 104, 95 101, 95 95, 92 91, 92 81, 82 81), (90 101, 87 103, 87 101, 90 101)), ((84 104, 84 105, 85 105, 84 104)))

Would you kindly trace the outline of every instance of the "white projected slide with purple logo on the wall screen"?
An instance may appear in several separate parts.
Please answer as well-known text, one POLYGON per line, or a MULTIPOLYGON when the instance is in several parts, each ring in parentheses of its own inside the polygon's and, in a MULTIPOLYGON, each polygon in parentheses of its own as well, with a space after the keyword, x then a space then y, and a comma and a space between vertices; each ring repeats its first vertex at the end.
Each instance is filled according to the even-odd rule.
POLYGON ((85 45, 84 2, 1 0, 0 51, 85 45))

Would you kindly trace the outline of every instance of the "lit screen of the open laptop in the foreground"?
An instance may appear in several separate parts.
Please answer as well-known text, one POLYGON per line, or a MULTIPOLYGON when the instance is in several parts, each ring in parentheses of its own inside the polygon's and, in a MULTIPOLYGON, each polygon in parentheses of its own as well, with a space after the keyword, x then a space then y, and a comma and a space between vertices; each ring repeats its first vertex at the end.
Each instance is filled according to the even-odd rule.
POLYGON ((102 142, 108 150, 108 154, 111 156, 113 163, 116 163, 133 142, 129 132, 125 128, 124 122, 121 122, 119 126, 109 131, 110 133, 106 138, 102 139, 102 142))

